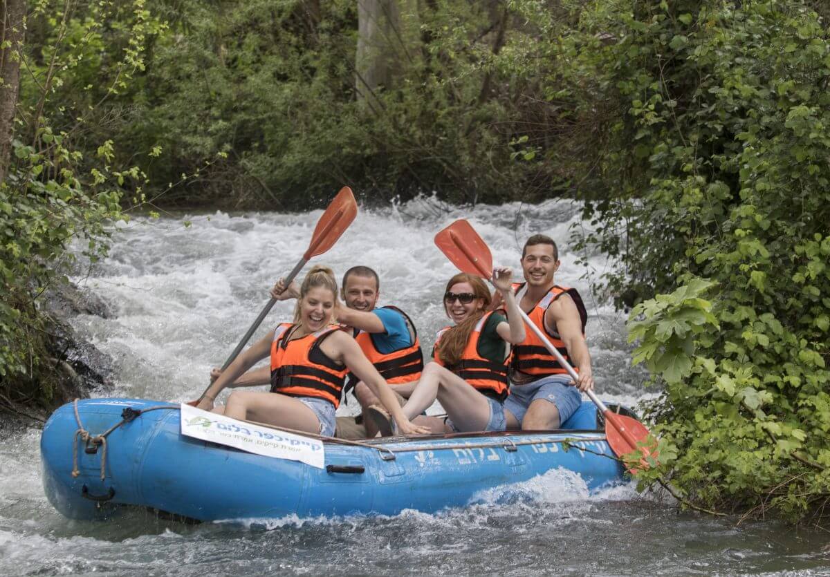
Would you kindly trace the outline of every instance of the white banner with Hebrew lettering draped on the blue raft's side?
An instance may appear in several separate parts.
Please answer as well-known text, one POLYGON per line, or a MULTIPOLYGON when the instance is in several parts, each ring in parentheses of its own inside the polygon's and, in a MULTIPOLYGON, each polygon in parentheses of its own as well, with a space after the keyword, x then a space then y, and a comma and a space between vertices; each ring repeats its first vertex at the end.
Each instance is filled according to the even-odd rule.
POLYGON ((323 468, 323 442, 231 419, 182 404, 182 434, 266 457, 288 458, 323 468))

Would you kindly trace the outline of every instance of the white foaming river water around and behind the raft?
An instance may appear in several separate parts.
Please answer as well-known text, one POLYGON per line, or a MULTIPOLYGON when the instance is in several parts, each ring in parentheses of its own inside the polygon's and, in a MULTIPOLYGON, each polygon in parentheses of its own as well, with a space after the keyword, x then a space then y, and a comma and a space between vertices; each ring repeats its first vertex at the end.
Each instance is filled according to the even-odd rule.
MULTIPOLYGON (((587 259, 594 278, 608 264, 567 247, 578 214, 567 201, 461 211, 422 198, 362 210, 315 262, 337 274, 352 264, 377 269, 381 300, 412 314, 429 350, 447 322, 440 298, 456 272, 432 242, 437 230, 466 217, 495 264, 516 268, 525 237, 549 234, 560 242, 557 281, 578 287, 590 313, 598 392, 637 405, 649 393, 642 371, 630 366, 624 315, 591 295, 586 269, 575 261, 587 259)), ((110 319, 76 321, 115 359, 116 386, 107 395, 195 398, 210 367, 222 364, 266 303, 266 289, 300 259, 319 216, 217 213, 122 226, 110 256, 74 279, 115 311, 110 319)), ((291 305, 278 303, 255 338, 290 316, 291 305)), ((190 526, 143 512, 67 521, 43 494, 39 439, 30 429, 0 444, 0 575, 830 575, 826 532, 681 513, 671 499, 640 496, 632 485, 588 494, 581 479, 561 470, 494 487, 469 507, 436 515, 292 517, 252 526, 190 526)))

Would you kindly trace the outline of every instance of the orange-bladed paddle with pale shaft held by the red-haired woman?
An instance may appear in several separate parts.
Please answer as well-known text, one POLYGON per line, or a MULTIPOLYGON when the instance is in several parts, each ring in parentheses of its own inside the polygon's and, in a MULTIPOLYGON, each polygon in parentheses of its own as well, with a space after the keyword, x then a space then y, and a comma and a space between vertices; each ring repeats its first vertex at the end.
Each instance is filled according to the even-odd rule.
MULTIPOLYGON (((469 222, 463 219, 453 222, 452 225, 447 226, 435 235, 435 244, 461 272, 476 274, 484 279, 491 280, 493 257, 490 249, 469 222)), ((540 327, 537 327, 535 322, 530 320, 525 311, 520 308, 519 312, 525 320, 525 324, 535 332, 536 336, 544 343, 544 347, 557 358, 559 364, 564 366, 569 376, 576 382, 579 375, 574 371, 574 367, 564 360, 562 354, 548 340, 540 327)), ((649 455, 656 456, 653 447, 644 445, 649 435, 648 429, 637 419, 612 412, 603 401, 598 399, 597 395, 593 394, 593 390, 586 390, 585 393, 605 416, 605 437, 608 439, 608 445, 610 445, 614 454, 622 458, 627 453, 639 450, 643 455, 639 464, 642 465, 642 468, 648 468, 646 457, 649 455), (609 423, 611 424, 610 427, 608 426, 609 423)), ((630 463, 628 465, 628 470, 632 473, 636 473, 639 468, 630 463)))

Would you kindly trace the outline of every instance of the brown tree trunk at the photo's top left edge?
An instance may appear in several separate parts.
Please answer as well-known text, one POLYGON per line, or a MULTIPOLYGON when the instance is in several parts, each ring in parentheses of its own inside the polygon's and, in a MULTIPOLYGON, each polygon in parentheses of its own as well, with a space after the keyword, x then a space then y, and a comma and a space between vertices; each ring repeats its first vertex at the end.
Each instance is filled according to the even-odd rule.
POLYGON ((17 109, 17 95, 20 92, 18 50, 22 50, 25 38, 25 17, 26 0, 2 0, 0 3, 0 182, 6 178, 12 156, 14 114, 17 109))

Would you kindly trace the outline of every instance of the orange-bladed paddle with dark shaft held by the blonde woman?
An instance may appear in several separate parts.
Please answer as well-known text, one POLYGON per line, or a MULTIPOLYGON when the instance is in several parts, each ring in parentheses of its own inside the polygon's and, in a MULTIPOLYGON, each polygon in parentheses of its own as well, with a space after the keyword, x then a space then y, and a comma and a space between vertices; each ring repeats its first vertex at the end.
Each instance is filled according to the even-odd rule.
MULTIPOLYGON (((294 277, 300 273, 300 270, 302 270, 305 263, 307 263, 312 256, 322 255, 326 250, 329 250, 332 246, 334 246, 334 243, 337 242, 344 230, 349 228, 349 225, 352 224, 352 221, 354 221, 354 217, 357 216, 357 214, 358 204, 354 201, 352 189, 349 187, 341 188, 340 192, 337 193, 337 196, 334 196, 334 200, 330 202, 329 207, 325 209, 323 216, 320 216, 320 221, 317 221, 314 234, 311 235, 309 248, 305 250, 303 258, 300 259, 300 262, 298 262, 294 269, 292 269, 288 276, 286 276, 286 287, 291 284, 291 281, 294 280, 294 277)), ((271 308, 274 307, 274 303, 276 303, 276 298, 271 298, 271 300, 268 301, 265 308, 263 308, 261 313, 259 313, 259 316, 256 317, 254 323, 242 336, 242 340, 239 344, 237 344, 237 347, 233 349, 231 356, 227 357, 227 361, 225 361, 225 364, 222 365, 222 371, 227 369, 234 359, 237 358, 239 353, 242 352, 242 349, 245 348, 245 345, 251 338, 251 335, 257 328, 259 328, 268 313, 271 312, 271 308)), ((210 385, 207 385, 207 389, 210 389, 210 385)), ((207 393, 207 389, 203 391, 198 400, 191 401, 188 405, 198 405, 199 401, 201 401, 205 393, 207 393)))

